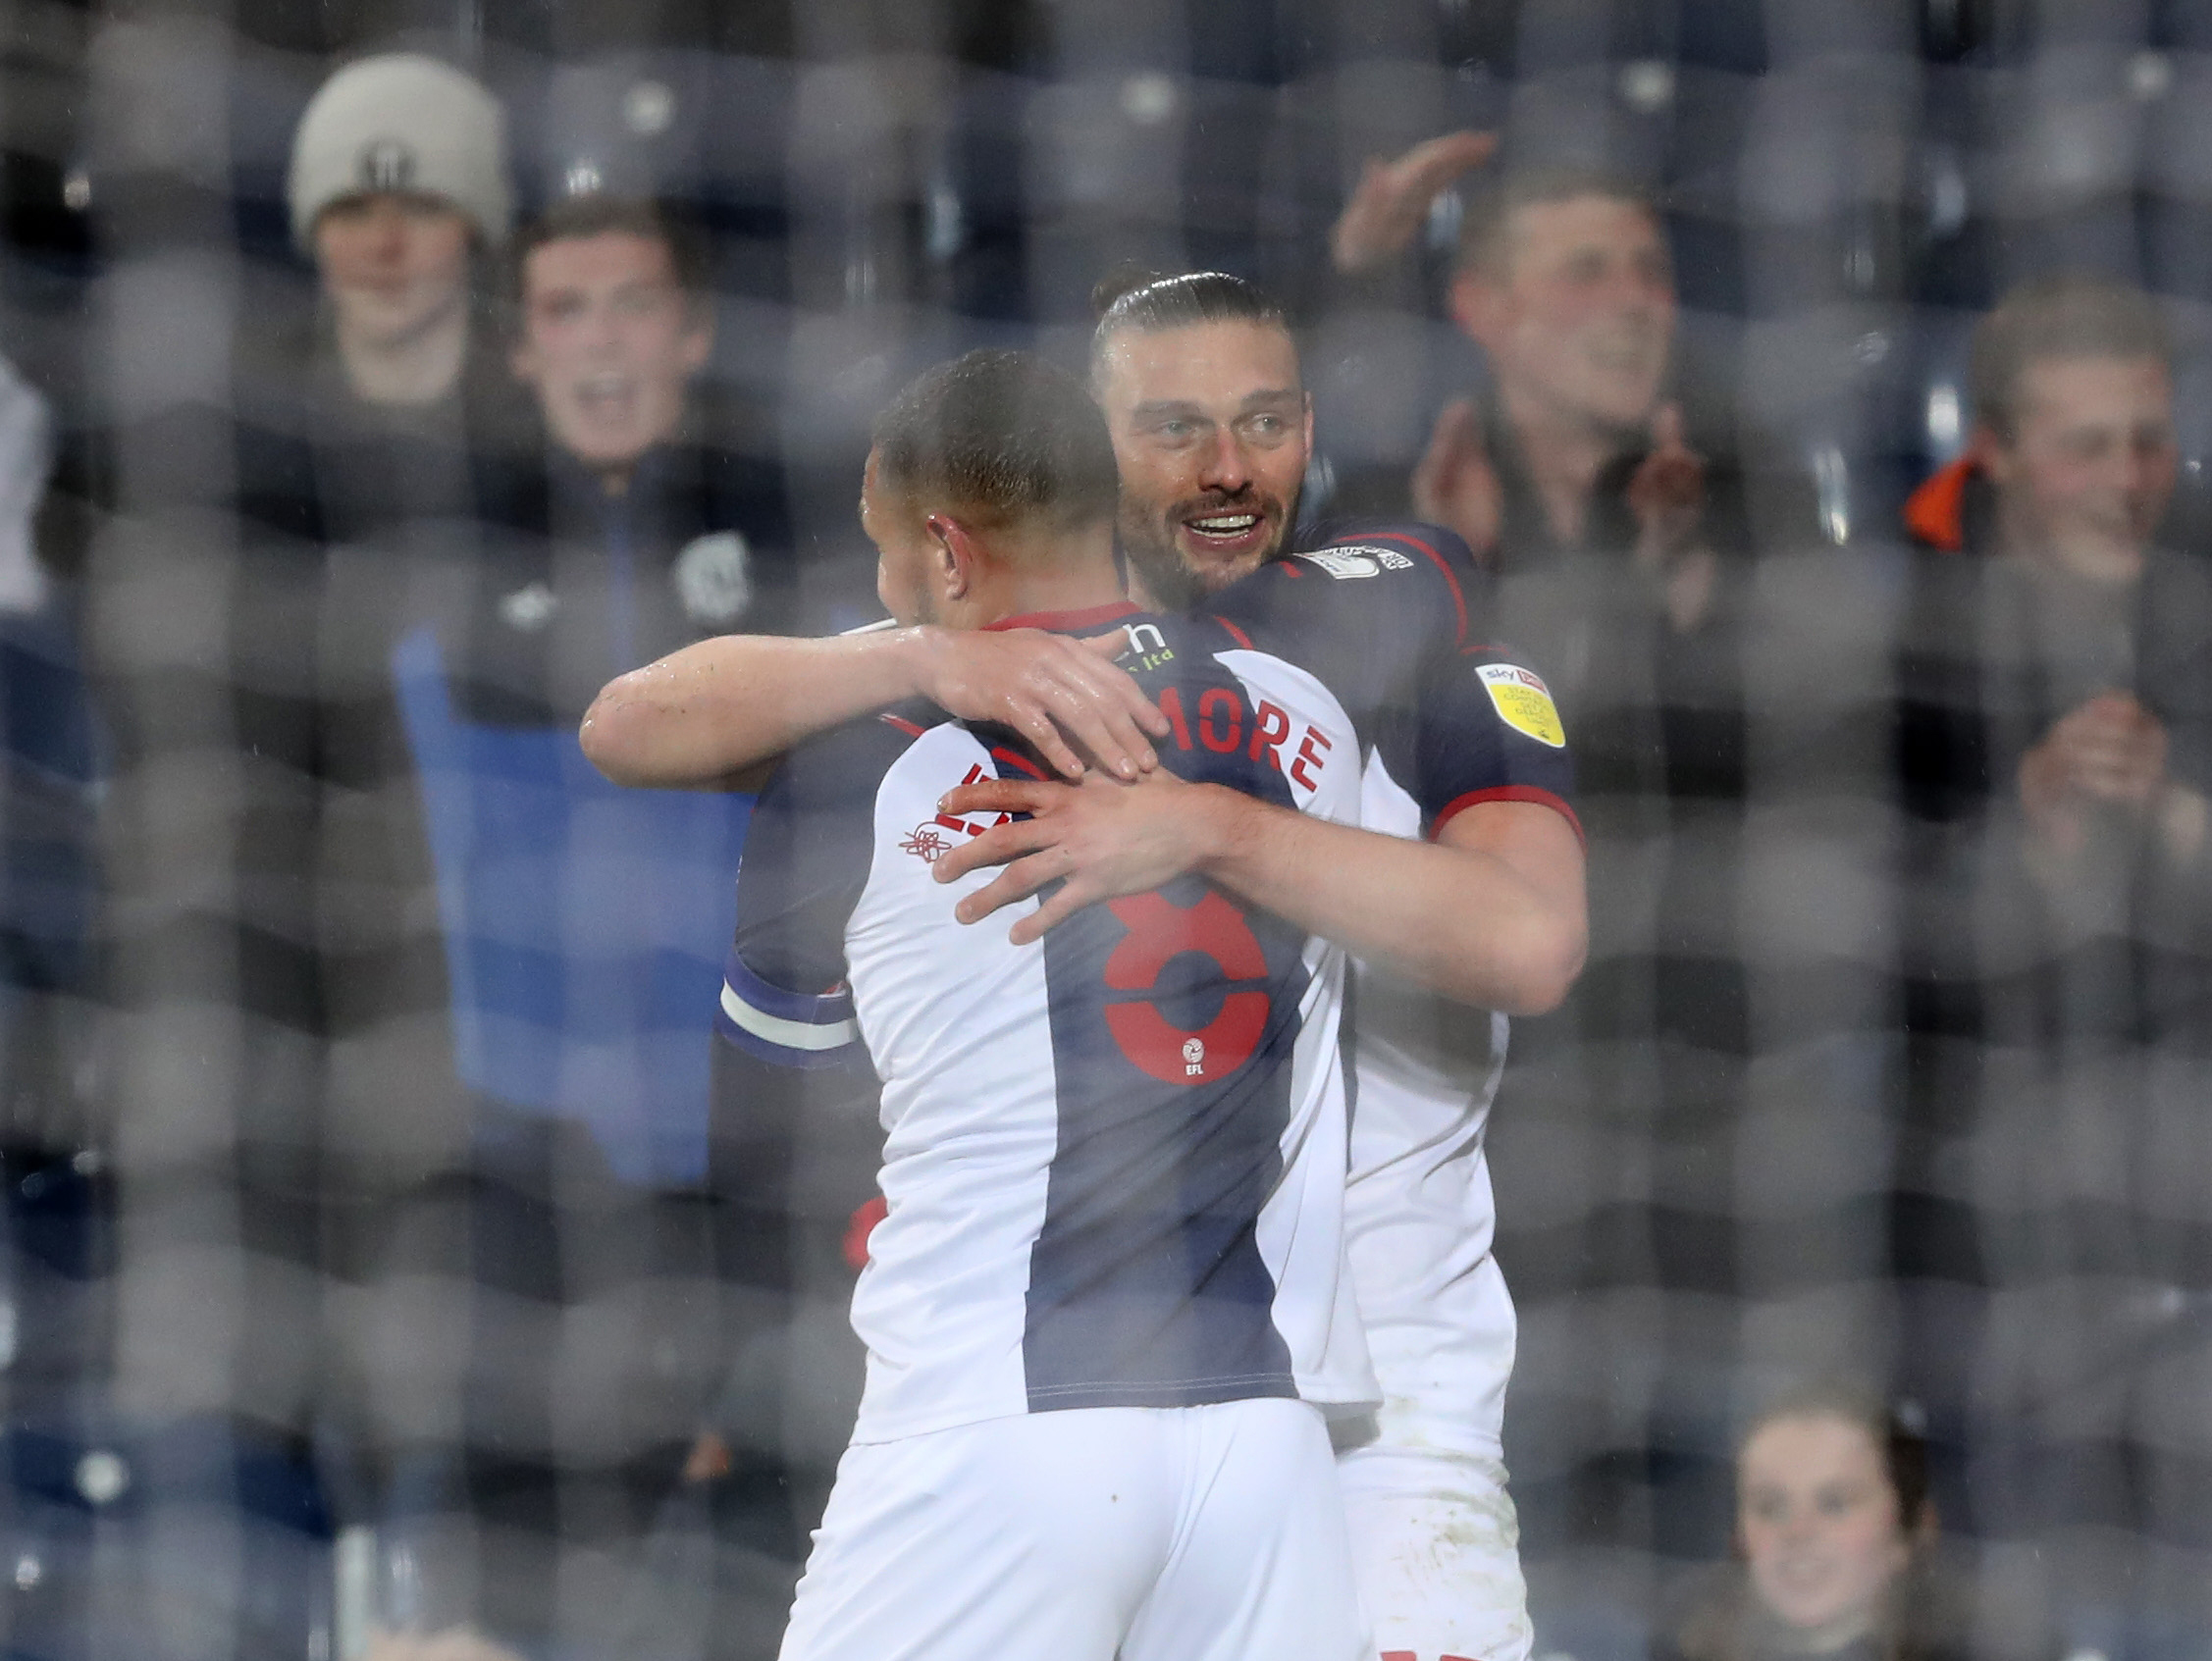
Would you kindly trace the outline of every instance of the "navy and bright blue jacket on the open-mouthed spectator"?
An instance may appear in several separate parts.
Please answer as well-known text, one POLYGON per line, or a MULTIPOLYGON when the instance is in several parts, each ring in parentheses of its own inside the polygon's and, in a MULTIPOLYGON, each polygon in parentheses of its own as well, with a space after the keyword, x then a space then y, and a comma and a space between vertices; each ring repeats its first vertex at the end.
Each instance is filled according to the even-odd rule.
POLYGON ((553 451, 504 482, 453 577, 387 668, 458 1073, 480 1099, 588 1126, 628 1181, 697 1183, 750 798, 619 790, 575 730, 615 675, 792 626, 781 473, 681 442, 613 495, 553 451))

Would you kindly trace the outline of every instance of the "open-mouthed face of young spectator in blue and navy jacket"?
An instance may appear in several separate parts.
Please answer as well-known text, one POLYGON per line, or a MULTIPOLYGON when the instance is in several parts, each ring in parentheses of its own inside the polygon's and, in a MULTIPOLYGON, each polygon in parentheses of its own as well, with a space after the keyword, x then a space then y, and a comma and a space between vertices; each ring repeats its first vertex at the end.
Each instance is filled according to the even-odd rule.
POLYGON ((560 237, 522 263, 515 374, 538 391, 553 440, 602 476, 626 476, 675 433, 710 347, 657 237, 560 237))

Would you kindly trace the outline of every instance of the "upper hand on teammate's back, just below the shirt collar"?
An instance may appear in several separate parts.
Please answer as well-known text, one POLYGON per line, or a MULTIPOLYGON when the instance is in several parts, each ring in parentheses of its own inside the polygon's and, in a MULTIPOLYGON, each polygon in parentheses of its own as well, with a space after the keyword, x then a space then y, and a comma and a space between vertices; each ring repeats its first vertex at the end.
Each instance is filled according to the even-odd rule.
POLYGON ((1068 779, 1084 776, 1084 756, 1119 779, 1159 763, 1146 734, 1168 737, 1168 717, 1113 661, 1128 650, 1119 630, 1071 639, 1042 628, 931 628, 927 639, 922 690, 947 714, 1013 728, 1068 779))

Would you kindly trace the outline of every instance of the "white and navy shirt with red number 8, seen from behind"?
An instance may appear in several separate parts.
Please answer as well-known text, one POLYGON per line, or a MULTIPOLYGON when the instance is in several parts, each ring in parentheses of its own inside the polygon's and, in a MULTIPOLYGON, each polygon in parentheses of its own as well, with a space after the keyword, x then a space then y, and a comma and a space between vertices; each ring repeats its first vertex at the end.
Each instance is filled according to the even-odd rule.
MULTIPOLYGON (((1376 734, 1438 814, 1564 767, 1498 734, 1425 743, 1416 699, 1449 699, 1420 683, 1484 697, 1433 553, 1285 562, 1219 615, 1115 610, 1015 621, 1126 628, 1186 779, 1358 823, 1376 734)), ((1343 953, 1197 878, 1020 949, 1020 909, 953 922, 993 874, 931 878, 984 829, 936 803, 1029 772, 1011 739, 907 710, 794 752, 748 840, 723 1033, 785 1064, 858 1040, 883 1082, 854 1438, 1064 1407, 1371 1404, 1343 1250, 1343 953)))

